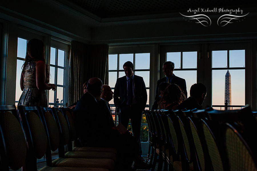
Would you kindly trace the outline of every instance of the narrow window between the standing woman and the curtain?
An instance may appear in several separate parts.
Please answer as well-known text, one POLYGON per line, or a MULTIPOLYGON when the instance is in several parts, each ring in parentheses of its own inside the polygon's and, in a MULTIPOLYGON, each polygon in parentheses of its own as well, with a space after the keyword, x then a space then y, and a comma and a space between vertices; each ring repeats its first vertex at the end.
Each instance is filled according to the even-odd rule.
POLYGON ((56 90, 49 90, 49 107, 63 107, 65 105, 64 92, 66 91, 65 84, 65 51, 51 47, 50 50, 50 84, 55 84, 56 90))

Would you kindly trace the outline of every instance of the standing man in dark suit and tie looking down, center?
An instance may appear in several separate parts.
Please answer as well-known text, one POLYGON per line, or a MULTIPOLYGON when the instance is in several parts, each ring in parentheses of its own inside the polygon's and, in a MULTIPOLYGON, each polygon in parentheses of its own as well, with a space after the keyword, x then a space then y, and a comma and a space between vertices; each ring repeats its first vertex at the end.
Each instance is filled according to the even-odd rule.
POLYGON ((118 78, 113 94, 115 107, 121 110, 121 124, 128 128, 130 119, 133 135, 140 146, 138 157, 142 158, 142 148, 140 141, 140 129, 142 112, 146 107, 147 93, 142 77, 133 74, 133 63, 127 61, 123 65, 124 77, 118 78))

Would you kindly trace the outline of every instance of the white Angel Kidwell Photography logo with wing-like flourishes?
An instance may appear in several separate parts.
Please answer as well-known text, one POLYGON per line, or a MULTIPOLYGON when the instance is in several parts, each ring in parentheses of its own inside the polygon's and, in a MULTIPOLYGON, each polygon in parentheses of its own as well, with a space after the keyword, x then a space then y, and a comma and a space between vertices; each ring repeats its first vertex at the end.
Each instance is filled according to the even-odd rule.
MULTIPOLYGON (((203 8, 198 8, 198 9, 189 9, 187 12, 192 12, 194 14, 196 13, 229 13, 229 14, 225 14, 225 15, 222 15, 221 17, 219 17, 218 21, 217 21, 217 24, 218 26, 225 26, 227 25, 228 23, 234 23, 234 21, 242 21, 243 18, 245 18, 246 15, 248 15, 249 13, 247 13, 246 15, 242 15, 242 16, 238 16, 238 15, 231 15, 232 13, 243 13, 243 10, 241 9, 223 9, 223 8, 214 8, 213 10, 210 10, 209 8, 207 9, 203 9, 203 8)), ((180 13, 181 14, 181 13, 180 13)), ((201 25, 203 26, 210 26, 212 21, 211 19, 207 16, 207 15, 204 15, 204 14, 198 14, 198 15, 183 15, 181 14, 182 16, 184 17, 187 17, 190 21, 195 21, 195 23, 200 23, 201 25)))

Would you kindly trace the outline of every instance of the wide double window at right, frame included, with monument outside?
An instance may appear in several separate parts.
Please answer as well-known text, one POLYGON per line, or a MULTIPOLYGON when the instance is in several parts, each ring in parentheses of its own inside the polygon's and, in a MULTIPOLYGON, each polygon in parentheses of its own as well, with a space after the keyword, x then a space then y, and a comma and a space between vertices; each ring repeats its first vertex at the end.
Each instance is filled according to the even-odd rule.
MULTIPOLYGON (((203 108, 224 110, 228 100, 229 109, 240 109, 253 100, 250 47, 247 41, 161 46, 160 67, 165 61, 174 62, 174 74, 186 80, 188 96, 192 84, 203 83, 207 88, 203 108)), ((161 69, 160 75, 164 76, 161 69)))

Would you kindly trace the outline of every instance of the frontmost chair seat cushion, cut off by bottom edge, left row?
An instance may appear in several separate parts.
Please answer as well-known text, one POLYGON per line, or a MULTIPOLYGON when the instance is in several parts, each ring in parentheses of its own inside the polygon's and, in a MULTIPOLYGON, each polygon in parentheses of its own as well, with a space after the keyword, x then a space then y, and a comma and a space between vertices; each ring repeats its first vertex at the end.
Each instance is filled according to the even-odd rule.
POLYGON ((108 171, 108 170, 103 168, 70 168, 70 167, 45 166, 39 171, 108 171))

